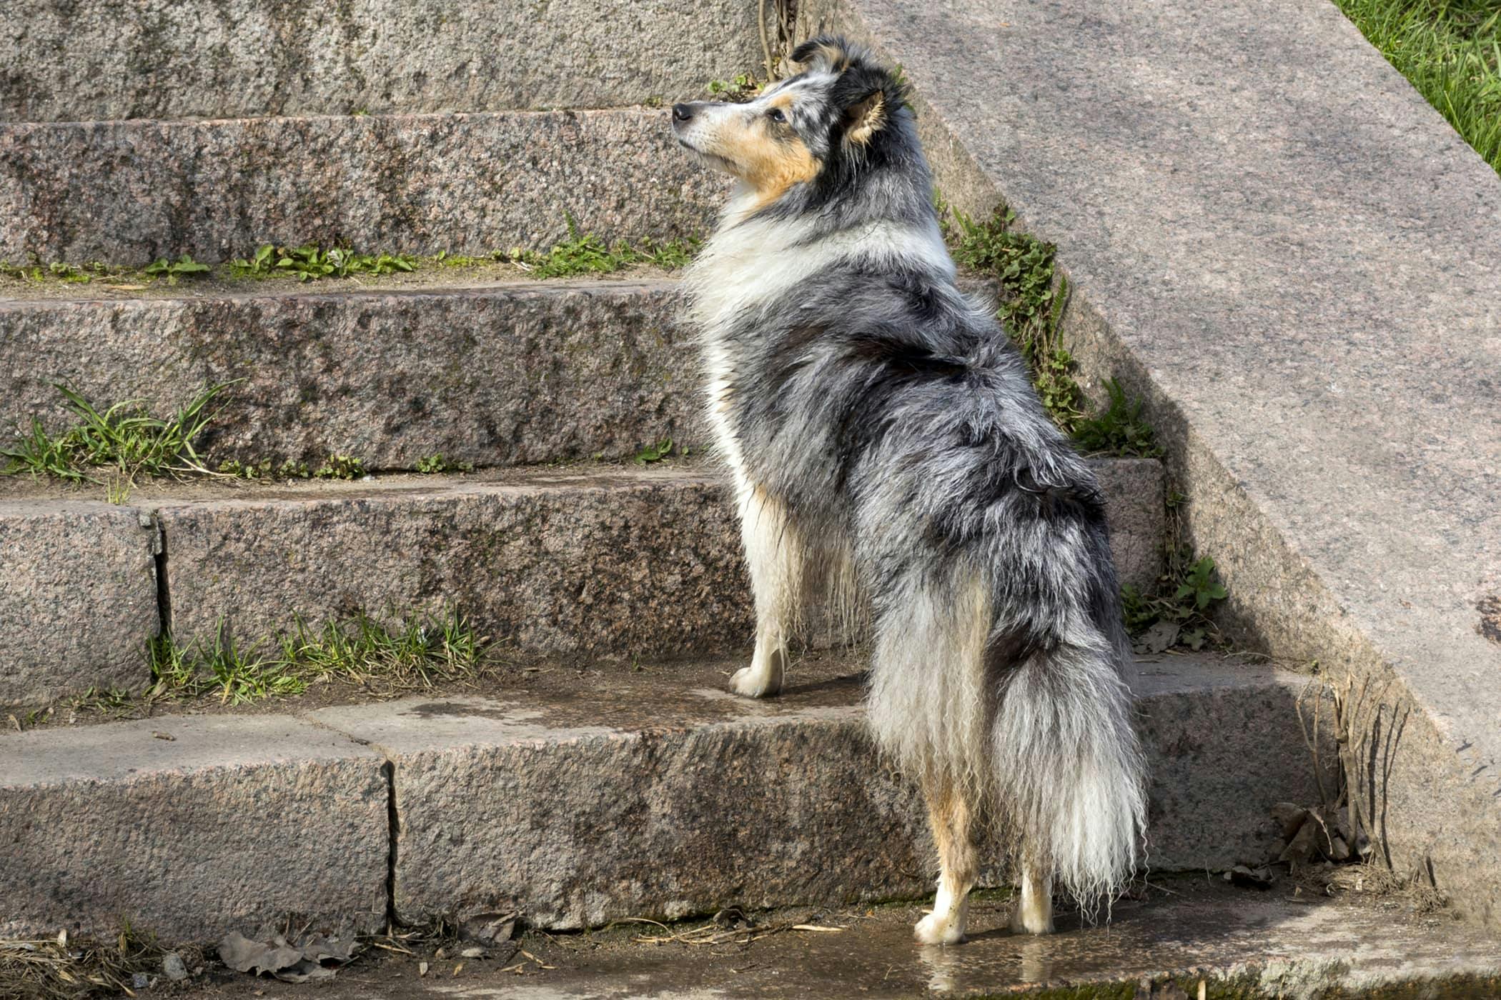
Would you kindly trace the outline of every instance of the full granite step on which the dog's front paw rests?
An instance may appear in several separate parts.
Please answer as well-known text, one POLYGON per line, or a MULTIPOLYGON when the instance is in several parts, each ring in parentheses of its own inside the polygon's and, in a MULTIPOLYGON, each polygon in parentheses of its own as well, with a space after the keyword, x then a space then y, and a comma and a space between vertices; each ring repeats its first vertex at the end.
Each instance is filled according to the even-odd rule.
MULTIPOLYGON (((866 738, 862 663, 811 654, 761 702, 725 691, 740 663, 3 733, 0 936, 128 918, 201 940, 288 910, 374 931, 387 904, 567 930, 928 892, 925 813, 866 738)), ((1261 861, 1267 808, 1316 793, 1306 679, 1210 657, 1139 672, 1153 873, 1261 861)))

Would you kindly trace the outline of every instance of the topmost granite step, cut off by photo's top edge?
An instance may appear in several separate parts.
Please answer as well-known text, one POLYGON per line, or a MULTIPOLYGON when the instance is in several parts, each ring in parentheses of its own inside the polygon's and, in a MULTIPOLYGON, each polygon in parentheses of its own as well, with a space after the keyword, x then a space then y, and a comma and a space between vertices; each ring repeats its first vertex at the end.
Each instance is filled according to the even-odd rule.
POLYGON ((0 36, 0 120, 672 103, 761 63, 754 0, 41 4, 0 36))

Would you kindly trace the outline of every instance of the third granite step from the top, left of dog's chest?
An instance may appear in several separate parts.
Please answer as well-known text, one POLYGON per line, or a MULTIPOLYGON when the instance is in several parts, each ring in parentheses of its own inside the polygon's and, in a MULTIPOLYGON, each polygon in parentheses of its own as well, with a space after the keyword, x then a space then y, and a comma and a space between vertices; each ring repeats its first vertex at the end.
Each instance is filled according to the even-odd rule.
POLYGON ((629 457, 701 433, 698 354, 675 282, 0 303, 0 427, 65 426, 53 388, 168 412, 219 397, 215 459, 353 454, 410 469, 629 457))

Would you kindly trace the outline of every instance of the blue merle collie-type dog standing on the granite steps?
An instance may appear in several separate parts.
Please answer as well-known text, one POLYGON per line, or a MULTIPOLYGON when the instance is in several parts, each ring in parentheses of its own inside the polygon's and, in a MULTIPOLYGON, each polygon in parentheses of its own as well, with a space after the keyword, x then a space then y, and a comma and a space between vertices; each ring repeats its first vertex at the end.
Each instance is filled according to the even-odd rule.
POLYGON ((731 688, 778 694, 809 580, 853 586, 871 729, 938 852, 917 940, 964 940, 986 831, 1019 868, 1012 928, 1045 934, 1055 879, 1093 912, 1145 828, 1100 490, 956 285, 902 82, 842 37, 791 58, 747 103, 672 106, 738 181, 686 276, 755 598, 731 688))

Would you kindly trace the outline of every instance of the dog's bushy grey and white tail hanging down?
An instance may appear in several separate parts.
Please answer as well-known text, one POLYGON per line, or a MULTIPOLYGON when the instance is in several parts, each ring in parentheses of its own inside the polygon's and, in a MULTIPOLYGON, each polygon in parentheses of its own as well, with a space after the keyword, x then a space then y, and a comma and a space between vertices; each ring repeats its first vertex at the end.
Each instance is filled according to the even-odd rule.
POLYGON ((989 747, 998 819, 1085 912, 1130 877, 1147 823, 1145 763, 1123 676, 1129 652, 1117 636, 1096 637, 991 672, 1000 684, 989 747))

